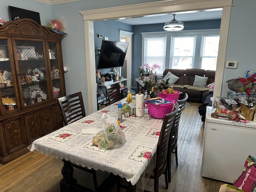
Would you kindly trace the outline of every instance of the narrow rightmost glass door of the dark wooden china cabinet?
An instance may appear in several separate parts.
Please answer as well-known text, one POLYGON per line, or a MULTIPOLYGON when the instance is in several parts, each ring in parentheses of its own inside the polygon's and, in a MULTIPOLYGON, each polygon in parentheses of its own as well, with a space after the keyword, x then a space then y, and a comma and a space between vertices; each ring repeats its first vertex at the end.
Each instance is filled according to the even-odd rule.
POLYGON ((56 42, 48 42, 48 52, 50 58, 50 67, 51 67, 51 74, 52 74, 52 91, 53 91, 53 98, 61 97, 61 78, 60 78, 60 66, 58 62, 58 44, 56 42))

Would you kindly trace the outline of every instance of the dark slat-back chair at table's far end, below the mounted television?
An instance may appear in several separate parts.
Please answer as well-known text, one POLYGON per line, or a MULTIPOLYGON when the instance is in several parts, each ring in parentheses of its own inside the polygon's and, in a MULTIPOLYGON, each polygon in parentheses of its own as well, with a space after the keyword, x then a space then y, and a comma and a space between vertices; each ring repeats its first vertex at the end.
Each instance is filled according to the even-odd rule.
POLYGON ((121 100, 120 85, 118 83, 107 85, 106 94, 108 97, 107 105, 111 105, 112 103, 121 100))

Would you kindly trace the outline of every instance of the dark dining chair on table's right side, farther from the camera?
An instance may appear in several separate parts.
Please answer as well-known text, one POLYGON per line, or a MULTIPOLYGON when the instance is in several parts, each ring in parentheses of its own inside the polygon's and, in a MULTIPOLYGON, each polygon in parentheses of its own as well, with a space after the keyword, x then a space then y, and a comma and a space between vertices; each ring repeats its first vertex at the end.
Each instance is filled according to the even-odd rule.
POLYGON ((182 100, 178 100, 179 108, 178 112, 174 118, 172 124, 172 129, 170 133, 170 139, 168 144, 168 155, 167 155, 167 173, 168 173, 168 182, 171 182, 171 155, 175 154, 176 166, 178 166, 178 128, 180 123, 180 116, 184 109, 186 100, 188 99, 188 94, 185 93, 182 100))

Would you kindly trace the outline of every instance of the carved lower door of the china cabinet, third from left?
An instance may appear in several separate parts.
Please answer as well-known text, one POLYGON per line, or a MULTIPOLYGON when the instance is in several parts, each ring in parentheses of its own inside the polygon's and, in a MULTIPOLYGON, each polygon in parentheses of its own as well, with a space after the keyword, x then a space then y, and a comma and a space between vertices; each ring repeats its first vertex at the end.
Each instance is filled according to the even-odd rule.
POLYGON ((53 122, 52 114, 53 114, 53 108, 46 108, 40 111, 43 135, 48 134, 54 130, 54 122, 53 122))

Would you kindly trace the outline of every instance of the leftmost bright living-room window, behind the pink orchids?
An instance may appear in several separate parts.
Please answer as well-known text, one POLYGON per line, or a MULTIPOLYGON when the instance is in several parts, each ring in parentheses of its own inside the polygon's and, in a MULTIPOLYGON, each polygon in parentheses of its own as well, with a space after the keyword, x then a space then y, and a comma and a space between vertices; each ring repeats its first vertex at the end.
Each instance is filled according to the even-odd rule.
POLYGON ((148 37, 145 38, 144 64, 149 64, 151 67, 154 64, 161 66, 157 71, 158 74, 163 74, 165 65, 165 48, 166 37, 148 37))

